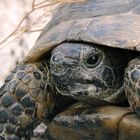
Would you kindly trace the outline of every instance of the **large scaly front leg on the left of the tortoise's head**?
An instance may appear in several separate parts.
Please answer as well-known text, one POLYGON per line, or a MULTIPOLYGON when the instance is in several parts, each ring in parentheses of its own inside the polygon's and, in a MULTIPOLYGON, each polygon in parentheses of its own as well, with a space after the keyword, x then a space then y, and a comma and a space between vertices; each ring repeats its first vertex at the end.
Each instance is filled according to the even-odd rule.
POLYGON ((46 63, 20 64, 6 78, 0 89, 1 140, 30 139, 34 125, 44 113, 51 113, 54 103, 47 92, 48 79, 46 63))

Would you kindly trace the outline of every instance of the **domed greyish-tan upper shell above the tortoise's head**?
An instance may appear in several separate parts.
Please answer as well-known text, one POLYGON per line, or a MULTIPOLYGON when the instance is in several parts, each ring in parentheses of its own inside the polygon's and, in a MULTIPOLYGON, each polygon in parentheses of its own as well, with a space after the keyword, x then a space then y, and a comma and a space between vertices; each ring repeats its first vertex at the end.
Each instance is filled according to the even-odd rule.
POLYGON ((140 0, 63 3, 24 62, 38 60, 62 42, 84 41, 140 51, 140 0))

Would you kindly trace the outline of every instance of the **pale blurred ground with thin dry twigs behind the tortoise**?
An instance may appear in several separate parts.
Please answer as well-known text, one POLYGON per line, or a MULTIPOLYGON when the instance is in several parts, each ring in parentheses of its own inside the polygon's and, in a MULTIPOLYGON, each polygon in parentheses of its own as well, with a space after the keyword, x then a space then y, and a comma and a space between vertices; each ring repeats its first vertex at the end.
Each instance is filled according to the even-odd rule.
POLYGON ((0 0, 0 86, 33 47, 58 5, 50 0, 0 0))

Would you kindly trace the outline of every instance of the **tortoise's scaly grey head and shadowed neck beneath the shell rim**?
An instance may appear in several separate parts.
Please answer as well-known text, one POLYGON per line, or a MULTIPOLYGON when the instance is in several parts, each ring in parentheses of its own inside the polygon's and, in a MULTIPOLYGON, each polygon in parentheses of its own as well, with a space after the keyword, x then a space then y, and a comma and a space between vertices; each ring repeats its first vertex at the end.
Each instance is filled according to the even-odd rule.
POLYGON ((50 75, 62 95, 92 104, 116 103, 125 97, 125 55, 107 46, 63 43, 52 51, 50 75))

